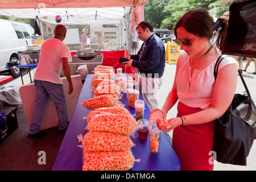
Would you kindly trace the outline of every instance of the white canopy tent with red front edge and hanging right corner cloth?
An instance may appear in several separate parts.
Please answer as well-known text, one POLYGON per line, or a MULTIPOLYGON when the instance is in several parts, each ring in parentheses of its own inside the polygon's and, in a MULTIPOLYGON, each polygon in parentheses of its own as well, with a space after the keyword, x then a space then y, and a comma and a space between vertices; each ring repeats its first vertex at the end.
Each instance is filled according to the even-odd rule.
MULTIPOLYGON (((0 15, 18 18, 38 18, 57 24, 118 24, 119 45, 129 49, 129 36, 135 26, 144 20, 144 3, 148 0, 1 0, 0 15), (136 11, 135 11, 136 9, 136 11), (137 18, 135 18, 137 17, 137 18)), ((40 22, 40 23, 39 23, 40 22)), ((40 28, 42 29, 42 28, 40 28)))

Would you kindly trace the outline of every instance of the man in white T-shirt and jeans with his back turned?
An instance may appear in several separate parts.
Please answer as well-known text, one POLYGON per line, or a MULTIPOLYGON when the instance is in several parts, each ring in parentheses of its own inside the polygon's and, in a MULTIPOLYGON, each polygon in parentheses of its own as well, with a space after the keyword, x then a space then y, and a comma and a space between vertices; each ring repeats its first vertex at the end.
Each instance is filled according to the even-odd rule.
POLYGON ((46 136, 46 131, 40 130, 40 126, 49 96, 56 106, 60 133, 64 133, 67 130, 67 105, 63 83, 60 79, 62 68, 68 80, 68 94, 71 94, 73 92, 73 85, 68 62, 72 61, 72 57, 68 46, 63 43, 66 33, 67 29, 63 25, 58 24, 54 30, 54 38, 46 40, 46 42, 42 44, 39 63, 34 76, 36 99, 31 125, 28 131, 28 138, 41 138, 46 136))

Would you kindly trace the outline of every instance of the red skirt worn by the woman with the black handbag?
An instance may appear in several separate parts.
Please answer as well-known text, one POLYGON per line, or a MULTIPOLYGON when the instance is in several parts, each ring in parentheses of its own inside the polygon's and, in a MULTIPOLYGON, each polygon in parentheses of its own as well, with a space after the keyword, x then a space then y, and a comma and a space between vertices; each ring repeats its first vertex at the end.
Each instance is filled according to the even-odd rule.
MULTIPOLYGON (((201 111, 200 108, 188 107, 181 102, 177 105, 177 117, 201 111)), ((199 118, 200 119, 200 118, 199 118)), ((178 126, 172 135, 172 147, 180 159, 183 171, 213 170, 211 155, 215 122, 198 125, 178 126)))

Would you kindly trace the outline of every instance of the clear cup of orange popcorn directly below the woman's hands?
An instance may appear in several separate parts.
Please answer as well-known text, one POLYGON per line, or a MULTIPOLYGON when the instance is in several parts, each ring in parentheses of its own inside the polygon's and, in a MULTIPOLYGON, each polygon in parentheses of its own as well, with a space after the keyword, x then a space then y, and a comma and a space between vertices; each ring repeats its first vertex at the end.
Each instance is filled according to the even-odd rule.
POLYGON ((149 122, 148 132, 150 136, 150 151, 157 153, 159 151, 162 131, 158 129, 156 121, 149 122))

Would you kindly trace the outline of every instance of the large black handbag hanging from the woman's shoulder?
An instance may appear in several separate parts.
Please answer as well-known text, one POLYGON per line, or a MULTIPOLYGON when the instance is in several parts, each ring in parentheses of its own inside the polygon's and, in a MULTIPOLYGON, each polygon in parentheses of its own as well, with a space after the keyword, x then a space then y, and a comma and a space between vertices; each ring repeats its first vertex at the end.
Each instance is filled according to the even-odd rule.
MULTIPOLYGON (((217 76, 218 64, 224 57, 220 56, 214 68, 217 76)), ((246 166, 246 158, 256 138, 256 106, 243 80, 247 94, 235 94, 228 110, 218 119, 213 139, 213 159, 225 164, 246 166)))

